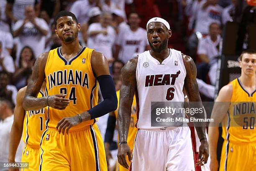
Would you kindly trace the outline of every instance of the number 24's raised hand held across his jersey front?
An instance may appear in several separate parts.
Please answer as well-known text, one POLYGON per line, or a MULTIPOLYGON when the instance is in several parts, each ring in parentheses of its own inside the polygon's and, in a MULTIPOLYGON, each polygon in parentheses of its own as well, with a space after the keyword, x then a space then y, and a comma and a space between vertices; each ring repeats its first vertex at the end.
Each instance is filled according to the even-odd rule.
POLYGON ((65 99, 66 94, 55 94, 47 97, 47 105, 59 110, 64 110, 69 105, 69 99, 65 99))

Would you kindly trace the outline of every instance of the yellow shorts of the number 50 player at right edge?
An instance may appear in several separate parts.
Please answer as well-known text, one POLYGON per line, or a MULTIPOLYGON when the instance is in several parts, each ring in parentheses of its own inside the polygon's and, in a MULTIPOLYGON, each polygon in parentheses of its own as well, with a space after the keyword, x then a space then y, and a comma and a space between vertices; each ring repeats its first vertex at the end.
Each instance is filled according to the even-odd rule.
POLYGON ((219 171, 255 171, 256 143, 223 142, 219 171))

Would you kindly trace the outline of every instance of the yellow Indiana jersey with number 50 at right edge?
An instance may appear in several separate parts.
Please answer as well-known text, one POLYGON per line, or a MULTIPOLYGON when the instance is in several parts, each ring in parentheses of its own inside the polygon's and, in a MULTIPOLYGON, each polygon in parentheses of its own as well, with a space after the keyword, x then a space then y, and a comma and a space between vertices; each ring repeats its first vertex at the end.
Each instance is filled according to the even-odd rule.
POLYGON ((238 79, 233 86, 227 117, 222 122, 222 137, 230 143, 256 143, 256 90, 251 94, 238 79))

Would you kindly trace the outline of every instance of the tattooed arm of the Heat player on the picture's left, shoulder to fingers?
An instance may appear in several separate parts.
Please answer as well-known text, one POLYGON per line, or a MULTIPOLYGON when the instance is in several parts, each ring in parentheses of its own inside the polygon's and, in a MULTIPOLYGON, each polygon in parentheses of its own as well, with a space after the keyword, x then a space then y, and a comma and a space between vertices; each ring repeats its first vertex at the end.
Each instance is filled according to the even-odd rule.
MULTIPOLYGON (((118 110, 118 135, 119 142, 127 142, 128 130, 131 121, 131 106, 136 87, 136 66, 138 57, 129 60, 122 69, 122 86, 120 89, 120 103, 118 110)), ((126 155, 131 162, 131 148, 127 143, 118 147, 118 162, 125 168, 129 168, 126 155)))

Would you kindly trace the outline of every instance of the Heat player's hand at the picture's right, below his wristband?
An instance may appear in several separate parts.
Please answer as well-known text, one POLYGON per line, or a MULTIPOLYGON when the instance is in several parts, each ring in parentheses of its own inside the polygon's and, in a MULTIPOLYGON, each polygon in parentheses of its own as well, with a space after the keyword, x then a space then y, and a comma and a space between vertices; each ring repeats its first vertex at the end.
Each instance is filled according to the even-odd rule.
POLYGON ((209 157, 209 148, 207 140, 202 140, 201 145, 199 147, 199 156, 197 158, 196 166, 203 166, 207 163, 209 157))

